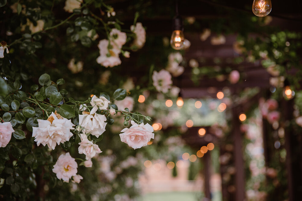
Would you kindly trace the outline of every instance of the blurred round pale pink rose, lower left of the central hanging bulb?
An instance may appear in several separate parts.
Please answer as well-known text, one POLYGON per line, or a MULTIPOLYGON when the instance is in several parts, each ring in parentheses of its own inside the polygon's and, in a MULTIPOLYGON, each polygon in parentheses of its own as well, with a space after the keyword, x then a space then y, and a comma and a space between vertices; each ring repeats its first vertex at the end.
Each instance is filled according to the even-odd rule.
POLYGON ((172 85, 171 74, 162 69, 159 72, 154 71, 152 75, 153 85, 159 92, 167 93, 171 89, 172 85))

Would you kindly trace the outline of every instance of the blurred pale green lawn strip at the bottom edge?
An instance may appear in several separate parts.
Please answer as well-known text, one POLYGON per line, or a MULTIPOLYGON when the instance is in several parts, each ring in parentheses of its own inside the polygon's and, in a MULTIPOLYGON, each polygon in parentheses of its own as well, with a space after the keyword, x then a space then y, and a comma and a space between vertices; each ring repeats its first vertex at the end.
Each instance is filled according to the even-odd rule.
POLYGON ((197 195, 197 192, 148 193, 143 196, 142 201, 197 201, 197 195))

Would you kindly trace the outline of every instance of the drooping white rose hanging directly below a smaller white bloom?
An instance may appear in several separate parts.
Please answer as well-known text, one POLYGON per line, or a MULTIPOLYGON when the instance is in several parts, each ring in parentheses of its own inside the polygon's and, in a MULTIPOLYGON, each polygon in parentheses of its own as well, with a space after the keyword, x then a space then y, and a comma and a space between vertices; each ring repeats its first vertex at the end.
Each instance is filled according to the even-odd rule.
POLYGON ((102 133, 105 132, 105 127, 107 125, 105 115, 100 114, 85 114, 79 115, 79 125, 85 128, 82 129, 83 134, 91 133, 95 137, 99 137, 102 133))

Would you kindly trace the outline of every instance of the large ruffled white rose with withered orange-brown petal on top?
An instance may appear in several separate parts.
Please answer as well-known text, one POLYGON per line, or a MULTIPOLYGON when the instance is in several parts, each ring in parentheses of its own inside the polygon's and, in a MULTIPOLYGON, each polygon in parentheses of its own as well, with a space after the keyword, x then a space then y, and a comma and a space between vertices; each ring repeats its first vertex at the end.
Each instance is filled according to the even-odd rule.
POLYGON ((39 127, 33 127, 33 137, 35 142, 39 146, 48 146, 51 149, 55 149, 56 144, 69 141, 72 137, 70 130, 74 130, 74 124, 71 120, 66 119, 59 115, 56 111, 51 113, 47 120, 38 119, 39 127))

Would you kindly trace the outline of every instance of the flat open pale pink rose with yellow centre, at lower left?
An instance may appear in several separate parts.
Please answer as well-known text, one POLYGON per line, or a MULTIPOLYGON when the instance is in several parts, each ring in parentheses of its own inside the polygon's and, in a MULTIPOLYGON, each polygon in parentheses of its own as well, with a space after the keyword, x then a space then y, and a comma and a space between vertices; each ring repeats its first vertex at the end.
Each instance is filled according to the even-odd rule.
POLYGON ((66 154, 61 154, 53 166, 53 172, 56 173, 58 179, 63 179, 64 182, 69 182, 71 177, 76 176, 78 172, 78 164, 76 159, 72 158, 67 152, 66 154))

